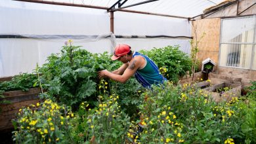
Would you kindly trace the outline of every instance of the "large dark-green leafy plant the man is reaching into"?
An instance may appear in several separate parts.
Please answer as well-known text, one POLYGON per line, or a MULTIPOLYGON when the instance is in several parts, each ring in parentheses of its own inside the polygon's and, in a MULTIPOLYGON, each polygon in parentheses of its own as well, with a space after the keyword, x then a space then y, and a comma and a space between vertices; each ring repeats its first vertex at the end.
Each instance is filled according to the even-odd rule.
MULTIPOLYGON (((45 81, 44 87, 49 98, 71 105, 74 110, 82 101, 90 105, 97 105, 99 94, 108 93, 133 96, 140 84, 135 79, 130 79, 126 84, 106 79, 107 84, 101 84, 97 72, 103 69, 114 70, 121 66, 120 62, 110 60, 110 54, 91 54, 80 46, 67 43, 60 54, 52 54, 47 58, 47 63, 39 69, 41 81, 45 81)), ((105 83, 104 82, 104 83, 105 83)), ((124 98, 124 97, 123 97, 124 98)), ((126 98, 126 97, 125 97, 126 98)), ((123 101, 121 98, 120 101, 123 101)), ((137 104, 136 99, 124 100, 123 105, 137 104), (128 103, 127 103, 128 102, 128 103)))

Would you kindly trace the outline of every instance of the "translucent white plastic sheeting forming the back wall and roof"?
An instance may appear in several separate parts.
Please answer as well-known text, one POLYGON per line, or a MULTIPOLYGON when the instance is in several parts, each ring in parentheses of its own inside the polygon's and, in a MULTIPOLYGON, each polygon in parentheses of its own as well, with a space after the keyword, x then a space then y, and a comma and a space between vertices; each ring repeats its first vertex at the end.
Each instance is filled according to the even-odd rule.
MULTIPOLYGON (((81 2, 84 5, 110 7, 116 1, 68 0, 62 2, 81 2)), ((139 2, 127 1, 125 4, 139 2)), ((190 1, 186 1, 186 3, 184 1, 156 1, 127 9, 194 16, 200 14, 202 7, 215 5, 209 1, 194 1, 194 4, 190 5, 190 7, 194 7, 194 10, 186 12, 188 7, 184 7, 183 12, 185 13, 182 15, 179 13, 182 8, 176 9, 177 7, 169 5, 169 3, 185 5, 190 1), (172 13, 172 10, 177 13, 172 13)), ((106 10, 11 0, 0 1, 0 18, 0 77, 31 73, 35 69, 36 63, 42 65, 51 53, 60 52, 68 39, 74 41, 73 45, 82 46, 93 53, 105 51, 112 53, 114 46, 119 43, 128 44, 133 50, 179 45, 183 52, 190 52, 190 39, 144 37, 144 35, 191 37, 191 23, 183 18, 114 12, 113 34, 110 33, 110 14, 106 10), (116 35, 122 35, 124 38, 116 38, 116 35), (137 35, 140 38, 131 38, 132 35, 137 35)))

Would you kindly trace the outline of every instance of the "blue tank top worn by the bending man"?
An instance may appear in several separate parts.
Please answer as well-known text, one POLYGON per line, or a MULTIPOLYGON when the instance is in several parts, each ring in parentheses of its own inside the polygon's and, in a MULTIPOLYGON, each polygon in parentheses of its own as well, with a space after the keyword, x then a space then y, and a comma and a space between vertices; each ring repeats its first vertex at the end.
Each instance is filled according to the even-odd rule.
POLYGON ((162 84, 163 81, 167 80, 160 74, 158 66, 152 60, 150 60, 148 56, 140 54, 139 52, 134 52, 133 58, 135 56, 142 56, 146 60, 145 67, 142 69, 137 69, 135 72, 135 78, 140 84, 142 84, 144 88, 151 88, 152 84, 162 84))

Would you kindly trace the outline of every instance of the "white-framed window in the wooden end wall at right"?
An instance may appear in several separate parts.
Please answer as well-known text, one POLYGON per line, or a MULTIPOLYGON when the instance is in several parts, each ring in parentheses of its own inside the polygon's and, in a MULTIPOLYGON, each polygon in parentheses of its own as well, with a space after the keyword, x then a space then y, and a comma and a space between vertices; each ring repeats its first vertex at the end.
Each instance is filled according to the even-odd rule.
POLYGON ((219 65, 256 70, 256 16, 221 20, 219 65))

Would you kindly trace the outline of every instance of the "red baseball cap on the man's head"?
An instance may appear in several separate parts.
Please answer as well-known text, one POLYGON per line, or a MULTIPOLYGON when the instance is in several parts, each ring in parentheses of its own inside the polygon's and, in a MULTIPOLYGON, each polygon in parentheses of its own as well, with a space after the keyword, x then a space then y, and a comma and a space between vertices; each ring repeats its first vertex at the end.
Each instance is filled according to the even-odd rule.
POLYGON ((131 47, 129 45, 121 44, 117 45, 114 51, 114 56, 111 57, 111 60, 117 60, 121 56, 125 56, 131 51, 131 47))

